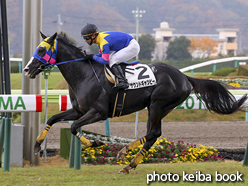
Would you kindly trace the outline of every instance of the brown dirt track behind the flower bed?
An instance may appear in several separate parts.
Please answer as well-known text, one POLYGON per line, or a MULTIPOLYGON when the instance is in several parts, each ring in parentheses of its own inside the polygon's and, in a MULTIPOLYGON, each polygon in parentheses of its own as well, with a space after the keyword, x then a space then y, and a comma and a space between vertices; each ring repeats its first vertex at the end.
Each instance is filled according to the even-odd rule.
MULTIPOLYGON (((47 148, 60 148, 60 128, 70 128, 71 123, 54 124, 47 135, 47 148)), ((40 125, 42 129, 44 124, 40 125)), ((97 122, 82 127, 83 130, 105 134, 105 123, 97 122)), ((110 123, 111 136, 135 139, 134 122, 110 123)), ((146 122, 139 122, 138 137, 146 134, 146 122)), ((246 148, 248 140, 248 122, 221 121, 221 122, 163 122, 162 136, 168 141, 179 140, 190 144, 202 144, 214 148, 246 148)))

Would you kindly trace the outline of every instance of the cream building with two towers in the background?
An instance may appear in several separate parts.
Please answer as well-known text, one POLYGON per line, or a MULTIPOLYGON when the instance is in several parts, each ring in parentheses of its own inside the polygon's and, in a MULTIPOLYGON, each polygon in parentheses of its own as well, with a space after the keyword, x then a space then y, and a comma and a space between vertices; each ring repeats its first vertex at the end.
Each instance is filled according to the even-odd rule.
MULTIPOLYGON (((219 54, 223 56, 236 56, 238 43, 237 43, 237 32, 239 29, 217 29, 219 34, 173 34, 174 28, 170 28, 167 22, 161 22, 160 28, 154 28, 156 47, 153 54, 153 60, 165 60, 166 51, 169 46, 169 42, 175 37, 186 36, 186 37, 209 37, 218 41, 216 47, 217 52, 212 53, 210 57, 217 57, 219 54)), ((196 52, 197 53, 197 52, 196 52)), ((197 58, 196 54, 192 54, 194 58, 197 58)))

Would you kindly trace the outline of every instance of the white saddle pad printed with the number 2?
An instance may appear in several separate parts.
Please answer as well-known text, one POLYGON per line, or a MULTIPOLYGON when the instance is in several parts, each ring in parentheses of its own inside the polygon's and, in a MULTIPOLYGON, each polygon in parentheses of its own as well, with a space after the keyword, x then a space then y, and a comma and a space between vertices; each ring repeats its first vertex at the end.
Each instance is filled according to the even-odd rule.
MULTIPOLYGON (((108 74, 111 76, 110 78, 108 77, 108 74, 105 73, 108 80, 114 83, 115 76, 113 75, 113 73, 106 67, 104 69, 107 69, 108 74)), ((128 89, 138 89, 154 86, 157 84, 156 78, 148 65, 137 64, 134 66, 126 66, 125 76, 129 83, 128 89)))

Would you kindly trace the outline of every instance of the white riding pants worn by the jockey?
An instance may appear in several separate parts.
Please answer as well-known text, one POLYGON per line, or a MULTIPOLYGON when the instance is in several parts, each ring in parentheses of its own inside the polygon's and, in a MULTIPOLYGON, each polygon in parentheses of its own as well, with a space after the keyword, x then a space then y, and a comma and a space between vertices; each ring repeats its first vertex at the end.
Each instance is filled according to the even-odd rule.
POLYGON ((109 66, 112 67, 114 64, 127 62, 128 60, 137 56, 139 54, 139 51, 140 51, 139 43, 135 39, 132 39, 127 47, 117 52, 112 52, 110 54, 109 66))

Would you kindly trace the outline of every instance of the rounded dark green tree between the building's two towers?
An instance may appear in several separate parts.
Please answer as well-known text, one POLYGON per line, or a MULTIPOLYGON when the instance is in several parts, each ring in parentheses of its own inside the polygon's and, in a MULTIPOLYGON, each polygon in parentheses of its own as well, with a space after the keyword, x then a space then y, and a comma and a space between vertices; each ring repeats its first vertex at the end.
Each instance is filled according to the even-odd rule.
POLYGON ((185 36, 180 36, 179 38, 175 38, 173 41, 169 43, 168 49, 166 51, 167 59, 174 60, 184 60, 191 59, 192 56, 188 51, 188 47, 190 46, 190 40, 185 36))

